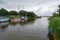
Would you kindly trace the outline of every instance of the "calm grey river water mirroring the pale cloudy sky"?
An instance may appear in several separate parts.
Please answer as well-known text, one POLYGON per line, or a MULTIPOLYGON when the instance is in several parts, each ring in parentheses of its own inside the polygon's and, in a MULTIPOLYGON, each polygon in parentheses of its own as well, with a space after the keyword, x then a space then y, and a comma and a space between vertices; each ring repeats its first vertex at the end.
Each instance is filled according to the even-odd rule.
POLYGON ((0 27, 0 40, 48 40, 48 24, 47 17, 26 24, 9 24, 0 27))

